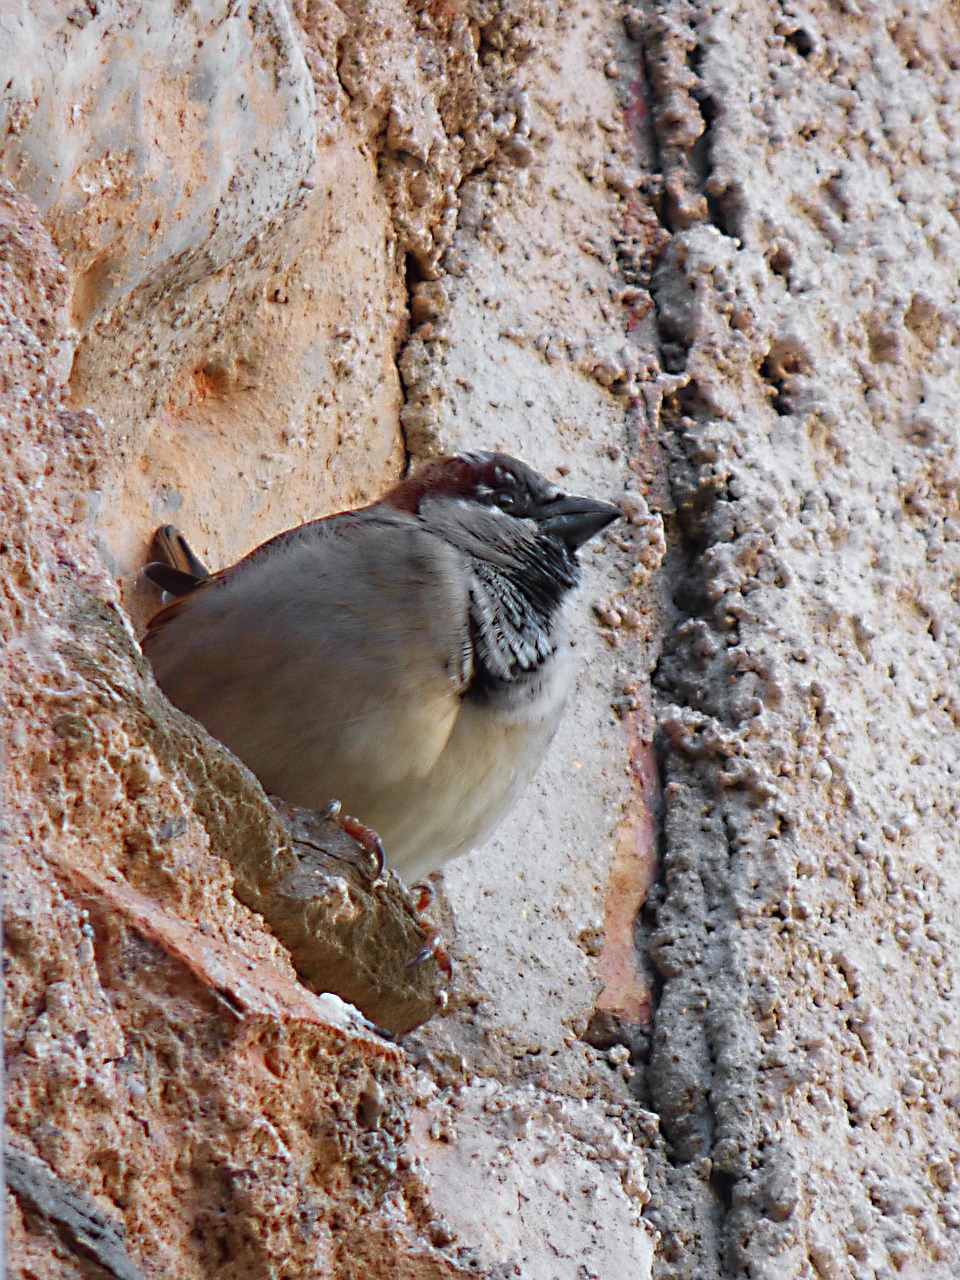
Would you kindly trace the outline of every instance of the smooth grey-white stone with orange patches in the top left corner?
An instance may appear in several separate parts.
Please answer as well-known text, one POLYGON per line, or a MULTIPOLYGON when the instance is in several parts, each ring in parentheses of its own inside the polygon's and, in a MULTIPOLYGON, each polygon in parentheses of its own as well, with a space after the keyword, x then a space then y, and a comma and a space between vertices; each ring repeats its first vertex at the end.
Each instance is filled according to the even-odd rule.
POLYGON ((0 170, 70 262, 87 329, 234 261, 303 193, 314 84, 282 0, 33 3, 3 18, 0 170), (174 163, 170 163, 175 156, 174 163))

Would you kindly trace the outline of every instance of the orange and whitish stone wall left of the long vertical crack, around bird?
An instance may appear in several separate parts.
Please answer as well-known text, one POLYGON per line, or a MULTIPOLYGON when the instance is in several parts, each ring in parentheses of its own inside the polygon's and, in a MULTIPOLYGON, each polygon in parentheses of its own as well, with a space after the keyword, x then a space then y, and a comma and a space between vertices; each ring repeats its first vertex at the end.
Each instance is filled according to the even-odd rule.
POLYGON ((608 1046, 649 1014, 628 677, 663 539, 614 236, 634 219, 640 275, 662 237, 622 31, 536 4, 37 0, 0 24, 13 1265, 648 1274, 654 1124, 628 1051, 581 1038, 600 993, 608 1046), (398 1047, 306 984, 426 1016, 408 900, 317 867, 302 815, 157 694, 137 573, 161 521, 225 563, 490 443, 631 520, 590 557, 571 728, 438 902, 447 1016, 398 1047))

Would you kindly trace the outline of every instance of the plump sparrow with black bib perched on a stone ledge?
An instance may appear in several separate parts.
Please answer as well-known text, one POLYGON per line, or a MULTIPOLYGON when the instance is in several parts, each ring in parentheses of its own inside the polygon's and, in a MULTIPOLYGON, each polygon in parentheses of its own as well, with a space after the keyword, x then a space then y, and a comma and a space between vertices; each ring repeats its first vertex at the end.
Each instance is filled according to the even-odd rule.
POLYGON ((166 526, 146 573, 177 598, 143 650, 269 792, 335 797, 412 884, 536 772, 575 677, 577 550, 621 515, 506 453, 460 453, 218 573, 166 526))

